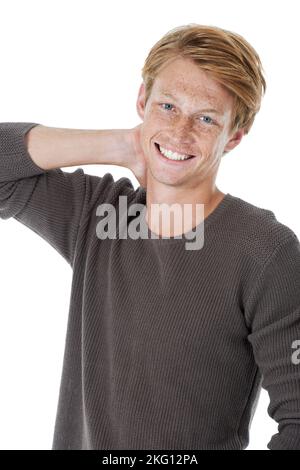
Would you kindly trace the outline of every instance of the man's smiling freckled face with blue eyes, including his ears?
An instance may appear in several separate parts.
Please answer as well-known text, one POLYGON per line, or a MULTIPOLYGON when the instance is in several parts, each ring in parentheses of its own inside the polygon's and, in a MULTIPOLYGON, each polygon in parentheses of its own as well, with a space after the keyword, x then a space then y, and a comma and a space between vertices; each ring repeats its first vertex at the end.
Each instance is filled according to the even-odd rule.
POLYGON ((232 105, 227 90, 189 59, 176 58, 164 65, 146 106, 142 83, 137 111, 143 120, 141 144, 148 178, 190 189, 214 179, 224 150, 233 149, 244 134, 230 133, 232 105), (170 160, 156 144, 193 157, 170 160))

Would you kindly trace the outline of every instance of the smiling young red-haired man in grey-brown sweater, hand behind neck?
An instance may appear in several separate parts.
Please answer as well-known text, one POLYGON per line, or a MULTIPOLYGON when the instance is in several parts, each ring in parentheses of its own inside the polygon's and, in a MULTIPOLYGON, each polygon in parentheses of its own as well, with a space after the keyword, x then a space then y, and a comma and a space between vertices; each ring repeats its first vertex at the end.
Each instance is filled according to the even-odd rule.
POLYGON ((268 448, 300 449, 299 240, 215 185, 259 110, 259 57, 241 36, 187 25, 151 49, 143 79, 133 129, 0 127, 1 217, 73 269, 53 449, 245 449, 261 386, 279 424, 268 448), (141 186, 60 169, 95 163, 141 186), (156 237, 104 236, 104 204, 138 220, 121 197, 147 208, 156 237), (164 203, 204 210, 169 231, 164 203), (201 249, 185 249, 192 228, 201 249))

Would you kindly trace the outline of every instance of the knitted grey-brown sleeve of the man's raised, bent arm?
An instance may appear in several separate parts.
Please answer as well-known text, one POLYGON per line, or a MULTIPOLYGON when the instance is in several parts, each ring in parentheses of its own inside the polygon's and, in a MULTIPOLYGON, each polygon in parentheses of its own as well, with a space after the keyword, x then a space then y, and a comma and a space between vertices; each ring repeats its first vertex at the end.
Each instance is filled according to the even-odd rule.
MULTIPOLYGON (((44 170, 32 160, 25 134, 37 123, 0 123, 0 218, 13 217, 73 266, 78 230, 91 200, 108 200, 112 175, 44 170)), ((121 178, 120 180, 128 180, 121 178)))

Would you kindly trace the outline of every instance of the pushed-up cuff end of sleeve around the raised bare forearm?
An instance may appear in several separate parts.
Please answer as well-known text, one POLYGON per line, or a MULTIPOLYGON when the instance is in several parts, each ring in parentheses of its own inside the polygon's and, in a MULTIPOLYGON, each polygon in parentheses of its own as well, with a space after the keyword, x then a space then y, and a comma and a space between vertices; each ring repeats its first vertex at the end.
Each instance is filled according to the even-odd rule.
POLYGON ((39 125, 33 122, 0 123, 0 182, 44 173, 32 160, 25 142, 25 134, 39 125))

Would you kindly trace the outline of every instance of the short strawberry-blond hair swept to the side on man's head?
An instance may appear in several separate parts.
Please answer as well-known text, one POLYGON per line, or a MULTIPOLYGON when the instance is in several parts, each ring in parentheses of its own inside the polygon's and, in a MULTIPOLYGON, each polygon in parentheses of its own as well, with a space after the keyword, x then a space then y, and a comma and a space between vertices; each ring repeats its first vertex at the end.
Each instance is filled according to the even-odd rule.
POLYGON ((216 26, 190 23, 168 31, 145 60, 142 77, 146 103, 162 66, 189 58, 223 85, 234 98, 231 131, 248 134, 266 91, 263 67, 254 48, 239 34, 216 26))

